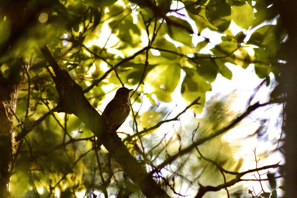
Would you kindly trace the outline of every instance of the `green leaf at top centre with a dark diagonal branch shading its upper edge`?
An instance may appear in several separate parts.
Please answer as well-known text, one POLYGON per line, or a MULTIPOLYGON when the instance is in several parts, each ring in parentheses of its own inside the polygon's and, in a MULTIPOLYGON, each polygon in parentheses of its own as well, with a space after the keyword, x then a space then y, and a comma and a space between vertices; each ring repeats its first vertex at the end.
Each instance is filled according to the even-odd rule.
POLYGON ((175 16, 168 16, 165 21, 170 38, 184 45, 193 46, 193 29, 189 22, 175 16))

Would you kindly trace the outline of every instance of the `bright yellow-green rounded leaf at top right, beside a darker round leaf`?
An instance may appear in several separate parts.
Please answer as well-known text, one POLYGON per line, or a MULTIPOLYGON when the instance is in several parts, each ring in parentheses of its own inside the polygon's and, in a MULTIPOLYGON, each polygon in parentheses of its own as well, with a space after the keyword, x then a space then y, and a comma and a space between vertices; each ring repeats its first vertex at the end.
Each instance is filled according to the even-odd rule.
POLYGON ((231 19, 243 29, 252 26, 254 12, 252 6, 242 1, 234 1, 231 9, 231 19))

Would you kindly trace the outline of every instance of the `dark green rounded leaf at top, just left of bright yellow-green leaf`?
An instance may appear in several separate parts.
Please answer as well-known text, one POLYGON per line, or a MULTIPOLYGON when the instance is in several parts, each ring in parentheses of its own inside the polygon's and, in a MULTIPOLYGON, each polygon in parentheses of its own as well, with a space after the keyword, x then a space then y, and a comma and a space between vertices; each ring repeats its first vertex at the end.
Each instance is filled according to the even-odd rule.
POLYGON ((206 6, 207 20, 220 32, 227 30, 231 23, 231 7, 222 0, 210 0, 206 6))

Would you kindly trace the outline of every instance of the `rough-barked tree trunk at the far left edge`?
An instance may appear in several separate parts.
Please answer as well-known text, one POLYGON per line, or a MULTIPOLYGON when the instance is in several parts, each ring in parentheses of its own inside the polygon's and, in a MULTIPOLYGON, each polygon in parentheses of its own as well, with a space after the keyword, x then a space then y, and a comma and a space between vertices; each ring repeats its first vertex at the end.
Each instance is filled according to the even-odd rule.
POLYGON ((13 151, 13 118, 16 109, 18 92, 22 88, 26 72, 22 61, 15 62, 10 68, 10 75, 4 78, 0 73, 0 197, 10 197, 9 182, 12 171, 13 151))

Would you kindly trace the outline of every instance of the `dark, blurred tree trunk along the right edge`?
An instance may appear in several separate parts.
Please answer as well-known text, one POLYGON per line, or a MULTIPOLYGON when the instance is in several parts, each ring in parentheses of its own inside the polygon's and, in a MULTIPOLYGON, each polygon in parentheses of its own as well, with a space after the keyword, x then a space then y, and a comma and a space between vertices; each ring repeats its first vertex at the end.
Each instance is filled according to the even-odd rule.
POLYGON ((287 61, 282 79, 286 95, 284 108, 285 144, 284 155, 285 196, 297 197, 297 3, 295 0, 276 1, 280 11, 280 23, 287 30, 288 39, 282 49, 283 60, 287 61))

